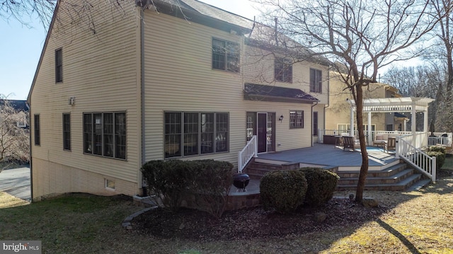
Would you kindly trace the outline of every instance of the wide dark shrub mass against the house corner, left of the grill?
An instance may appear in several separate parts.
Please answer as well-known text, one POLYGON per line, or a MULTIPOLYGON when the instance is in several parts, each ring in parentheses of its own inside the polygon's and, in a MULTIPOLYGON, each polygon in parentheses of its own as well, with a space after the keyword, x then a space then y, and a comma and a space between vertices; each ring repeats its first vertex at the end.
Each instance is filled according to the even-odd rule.
POLYGON ((142 174, 161 207, 176 212, 193 195, 196 209, 220 217, 233 181, 232 169, 227 161, 159 160, 145 163, 142 174))

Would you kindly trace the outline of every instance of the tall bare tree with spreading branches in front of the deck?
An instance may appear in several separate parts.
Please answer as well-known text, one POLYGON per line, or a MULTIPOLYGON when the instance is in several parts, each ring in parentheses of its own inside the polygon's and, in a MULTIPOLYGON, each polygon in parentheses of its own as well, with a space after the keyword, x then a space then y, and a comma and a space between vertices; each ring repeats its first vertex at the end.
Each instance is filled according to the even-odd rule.
MULTIPOLYGON (((299 50, 309 48, 339 62, 345 89, 350 89, 357 107, 362 166, 355 200, 361 202, 368 171, 363 129, 363 88, 377 82, 379 67, 410 59, 420 52, 408 51, 430 32, 437 18, 429 1, 362 0, 256 0, 266 6, 268 25, 297 40, 299 50)), ((284 44, 282 44, 284 45, 284 44)), ((297 46, 295 46, 297 47, 297 46)), ((293 49, 293 50, 297 50, 293 49)), ((338 68, 338 66, 333 66, 338 68)))

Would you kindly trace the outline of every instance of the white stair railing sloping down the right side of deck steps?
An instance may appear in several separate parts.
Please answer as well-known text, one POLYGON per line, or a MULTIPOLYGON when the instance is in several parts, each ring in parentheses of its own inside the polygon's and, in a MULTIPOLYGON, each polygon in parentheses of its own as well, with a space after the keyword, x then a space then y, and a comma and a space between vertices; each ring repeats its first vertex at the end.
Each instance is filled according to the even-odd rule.
POLYGON ((399 158, 406 161, 413 168, 427 175, 432 182, 436 181, 436 157, 429 156, 422 149, 413 146, 412 135, 396 137, 396 151, 399 158))

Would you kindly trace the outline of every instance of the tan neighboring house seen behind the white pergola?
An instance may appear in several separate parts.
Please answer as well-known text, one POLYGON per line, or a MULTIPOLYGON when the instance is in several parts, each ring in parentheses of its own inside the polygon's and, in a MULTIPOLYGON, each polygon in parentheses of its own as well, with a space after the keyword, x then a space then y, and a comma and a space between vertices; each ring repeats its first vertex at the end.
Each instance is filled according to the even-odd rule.
MULTIPOLYGON (((399 98, 401 95, 393 86, 385 83, 370 83, 364 87, 364 98, 399 98)), ((350 90, 336 71, 330 72, 329 105, 326 108, 326 129, 335 129, 339 133, 350 131, 350 104, 346 99, 352 99, 350 90)), ((367 129, 367 114, 363 115, 365 130, 367 129)), ((404 115, 393 113, 372 114, 372 131, 406 130, 405 122, 408 120, 404 115)), ((357 119, 354 115, 357 130, 357 119)))

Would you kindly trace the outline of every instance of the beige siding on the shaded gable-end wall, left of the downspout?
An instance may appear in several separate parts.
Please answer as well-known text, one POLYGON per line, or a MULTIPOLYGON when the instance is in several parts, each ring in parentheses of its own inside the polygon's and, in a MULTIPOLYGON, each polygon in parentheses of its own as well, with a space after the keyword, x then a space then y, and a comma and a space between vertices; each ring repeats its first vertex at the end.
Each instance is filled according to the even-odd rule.
MULTIPOLYGON (((60 10, 67 11, 67 1, 60 3, 60 10)), ((95 11, 109 12, 102 1, 92 4, 95 11)), ((63 22, 55 23, 30 96, 31 114, 40 114, 41 123, 41 145, 33 146, 32 151, 35 161, 124 180, 138 190, 139 11, 129 7, 125 6, 123 15, 115 18, 107 13, 93 16, 96 34, 69 25, 67 13, 59 12, 64 14, 59 17, 63 22), (57 48, 62 48, 61 83, 55 83, 57 48), (68 105, 70 97, 76 98, 74 106, 68 105), (84 154, 84 112, 117 111, 126 112, 127 117, 126 160, 84 154), (62 148, 62 113, 71 114, 71 151, 62 148)), ((33 168, 42 165, 37 163, 33 168)))

